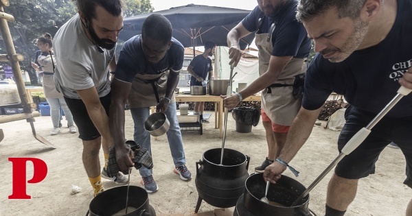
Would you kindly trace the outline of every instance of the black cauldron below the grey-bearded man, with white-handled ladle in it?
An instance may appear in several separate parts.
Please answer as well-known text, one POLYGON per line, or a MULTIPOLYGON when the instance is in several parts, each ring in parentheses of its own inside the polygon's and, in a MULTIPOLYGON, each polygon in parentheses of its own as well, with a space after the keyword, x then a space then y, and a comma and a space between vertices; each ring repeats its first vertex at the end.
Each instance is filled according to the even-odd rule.
POLYGON ((297 180, 282 175, 282 178, 280 178, 276 184, 270 184, 267 195, 269 202, 277 202, 284 206, 274 206, 260 201, 260 198, 264 197, 265 187, 266 182, 263 179, 263 173, 252 174, 249 176, 246 180, 243 200, 238 201, 233 215, 312 215, 308 208, 309 195, 306 195, 297 206, 290 206, 295 202, 297 197, 306 190, 304 185, 297 182, 297 180), (242 206, 242 204, 244 206, 242 206))

